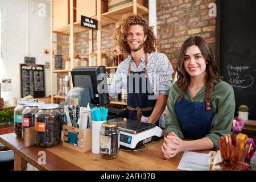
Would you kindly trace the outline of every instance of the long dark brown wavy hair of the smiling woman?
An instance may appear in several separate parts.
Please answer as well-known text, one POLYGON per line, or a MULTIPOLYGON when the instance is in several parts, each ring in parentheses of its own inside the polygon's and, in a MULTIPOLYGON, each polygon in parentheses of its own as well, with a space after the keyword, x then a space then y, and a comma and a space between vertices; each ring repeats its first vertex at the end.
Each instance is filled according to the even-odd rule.
POLYGON ((218 75, 218 67, 215 62, 212 50, 203 38, 200 36, 193 36, 185 40, 180 49, 179 59, 177 61, 177 86, 181 91, 184 91, 189 85, 190 76, 183 67, 185 52, 190 46, 198 46, 205 60, 208 61, 205 70, 205 82, 210 85, 211 88, 221 81, 221 76, 218 75))

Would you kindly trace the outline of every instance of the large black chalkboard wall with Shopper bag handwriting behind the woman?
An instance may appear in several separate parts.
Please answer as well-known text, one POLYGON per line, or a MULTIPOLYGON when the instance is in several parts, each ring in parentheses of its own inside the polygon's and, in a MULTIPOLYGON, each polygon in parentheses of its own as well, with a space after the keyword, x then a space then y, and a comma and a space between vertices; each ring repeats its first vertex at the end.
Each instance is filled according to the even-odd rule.
MULTIPOLYGON (((220 3, 220 68, 233 86, 238 106, 249 106, 256 117, 256 1, 225 0, 220 3)), ((218 15, 217 15, 218 16, 218 15)))

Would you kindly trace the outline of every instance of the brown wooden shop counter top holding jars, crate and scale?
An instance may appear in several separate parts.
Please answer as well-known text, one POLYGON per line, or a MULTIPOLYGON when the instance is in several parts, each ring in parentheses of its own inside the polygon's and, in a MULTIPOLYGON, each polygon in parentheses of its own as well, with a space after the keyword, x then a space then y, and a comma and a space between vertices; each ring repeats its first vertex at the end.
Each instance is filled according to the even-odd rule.
MULTIPOLYGON (((116 159, 102 159, 100 154, 92 152, 81 153, 61 144, 52 148, 39 148, 36 146, 24 147, 24 140, 14 133, 0 135, 0 142, 14 151, 14 170, 26 169, 31 163, 40 170, 177 170, 183 152, 175 158, 165 159, 161 151, 163 139, 146 144, 141 151, 122 151, 116 159), (39 165, 39 151, 46 152, 46 164, 39 165)), ((203 151, 208 153, 209 151, 203 151)))

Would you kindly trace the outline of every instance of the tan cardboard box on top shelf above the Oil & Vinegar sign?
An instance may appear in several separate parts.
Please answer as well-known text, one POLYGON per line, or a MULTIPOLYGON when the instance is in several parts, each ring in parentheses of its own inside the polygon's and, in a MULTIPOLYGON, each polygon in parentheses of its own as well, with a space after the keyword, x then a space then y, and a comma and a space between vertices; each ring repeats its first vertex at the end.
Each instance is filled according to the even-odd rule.
MULTIPOLYGON (((76 2, 76 18, 77 22, 81 20, 81 15, 92 17, 97 15, 96 0, 77 0, 76 2)), ((108 0, 101 0, 101 14, 108 12, 108 0)))

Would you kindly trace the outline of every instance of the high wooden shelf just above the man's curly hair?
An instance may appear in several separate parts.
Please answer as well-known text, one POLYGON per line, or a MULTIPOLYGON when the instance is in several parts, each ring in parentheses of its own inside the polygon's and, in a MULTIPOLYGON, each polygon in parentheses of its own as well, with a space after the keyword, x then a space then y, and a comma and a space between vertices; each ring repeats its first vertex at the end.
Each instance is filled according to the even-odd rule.
MULTIPOLYGON (((133 12, 133 5, 124 6, 120 9, 109 11, 107 13, 101 14, 101 26, 118 22, 122 15, 133 12)), ((145 15, 148 14, 148 9, 139 3, 137 3, 137 14, 145 15)))

